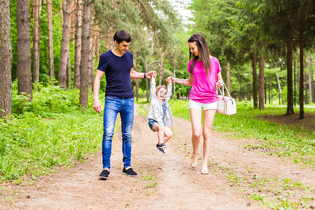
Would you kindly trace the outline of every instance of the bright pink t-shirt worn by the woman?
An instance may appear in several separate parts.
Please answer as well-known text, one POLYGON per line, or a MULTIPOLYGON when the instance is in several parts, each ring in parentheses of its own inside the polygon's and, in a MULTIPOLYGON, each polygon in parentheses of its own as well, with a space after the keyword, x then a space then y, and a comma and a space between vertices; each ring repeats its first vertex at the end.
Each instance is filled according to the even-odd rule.
MULTIPOLYGON (((190 90, 189 99, 203 104, 216 102, 216 80, 221 71, 220 63, 216 57, 211 57, 211 71, 207 74, 204 70, 204 63, 197 60, 193 69, 194 84, 190 90)), ((188 64, 187 71, 190 72, 190 66, 193 59, 188 64)))

